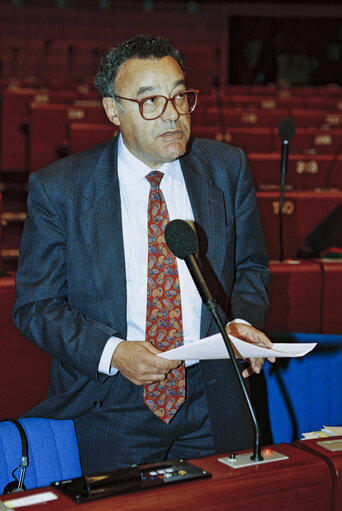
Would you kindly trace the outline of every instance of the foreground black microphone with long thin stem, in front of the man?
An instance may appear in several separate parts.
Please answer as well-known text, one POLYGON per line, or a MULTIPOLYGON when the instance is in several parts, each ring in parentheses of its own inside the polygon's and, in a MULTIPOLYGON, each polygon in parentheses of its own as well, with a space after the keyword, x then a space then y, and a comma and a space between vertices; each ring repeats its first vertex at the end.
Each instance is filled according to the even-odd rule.
POLYGON ((171 222, 169 222, 165 227, 164 235, 166 244, 173 253, 173 255, 175 255, 179 259, 184 259, 189 269, 189 272, 195 282, 195 285, 198 289, 198 292, 201 295, 204 304, 207 306, 210 313, 212 314, 219 328, 219 331, 223 337, 223 341, 229 353, 230 360, 233 364, 235 374, 241 386, 254 425, 255 441, 254 452, 253 455, 251 456, 251 460, 262 461, 263 457, 261 455, 261 435, 259 424, 256 418, 252 402, 249 398, 248 392, 243 382, 243 378, 239 371, 233 347, 228 338, 224 324, 222 323, 222 320, 218 313, 216 302, 210 293, 210 290, 205 281, 203 272, 196 257, 196 252, 198 248, 197 235, 194 229, 184 220, 172 220, 171 222))

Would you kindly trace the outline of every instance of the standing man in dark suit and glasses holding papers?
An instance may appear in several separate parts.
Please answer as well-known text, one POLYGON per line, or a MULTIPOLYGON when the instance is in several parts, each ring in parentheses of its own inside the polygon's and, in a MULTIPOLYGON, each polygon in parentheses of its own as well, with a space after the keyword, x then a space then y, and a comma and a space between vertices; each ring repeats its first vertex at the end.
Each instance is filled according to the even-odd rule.
MULTIPOLYGON (((151 170, 169 218, 191 221, 227 332, 270 347, 262 328, 268 261, 243 152, 190 137, 197 92, 179 53, 138 36, 104 57, 97 88, 120 135, 30 178, 13 318, 52 358, 47 399, 27 415, 73 418, 85 473, 250 448, 251 421, 229 361, 187 362, 169 423, 144 404, 181 361, 145 334, 151 170)), ((217 332, 178 260, 184 343, 217 332)), ((178 311, 179 312, 179 311, 178 311)), ((249 361, 243 376, 260 372, 249 361)))

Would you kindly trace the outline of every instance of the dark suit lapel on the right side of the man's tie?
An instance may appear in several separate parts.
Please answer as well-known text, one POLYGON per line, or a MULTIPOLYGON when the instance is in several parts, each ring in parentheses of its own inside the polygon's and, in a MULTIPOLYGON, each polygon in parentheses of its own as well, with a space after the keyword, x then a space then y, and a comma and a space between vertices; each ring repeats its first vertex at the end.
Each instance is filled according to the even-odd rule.
MULTIPOLYGON (((181 159, 181 166, 196 223, 199 259, 215 297, 226 251, 224 194, 213 182, 213 169, 194 151, 181 159)), ((202 305, 201 337, 207 335, 210 321, 211 316, 202 305)))

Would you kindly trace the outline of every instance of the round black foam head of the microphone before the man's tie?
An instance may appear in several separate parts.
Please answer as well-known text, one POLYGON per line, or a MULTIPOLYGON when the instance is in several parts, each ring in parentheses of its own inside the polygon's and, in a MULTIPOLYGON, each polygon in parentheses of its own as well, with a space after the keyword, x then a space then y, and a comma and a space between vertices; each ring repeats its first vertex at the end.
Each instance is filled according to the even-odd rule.
POLYGON ((197 252, 197 236, 184 220, 172 220, 165 227, 165 241, 173 255, 185 259, 197 252))

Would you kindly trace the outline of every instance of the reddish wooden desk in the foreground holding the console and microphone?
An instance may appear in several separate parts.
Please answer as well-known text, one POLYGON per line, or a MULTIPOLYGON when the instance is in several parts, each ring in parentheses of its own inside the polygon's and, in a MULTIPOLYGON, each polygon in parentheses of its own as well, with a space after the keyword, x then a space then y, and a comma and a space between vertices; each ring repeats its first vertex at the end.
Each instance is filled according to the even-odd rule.
MULTIPOLYGON (((220 463, 217 456, 192 460, 211 472, 212 478, 108 497, 83 503, 81 507, 84 511, 173 511, 180 506, 184 510, 201 511, 330 511, 332 479, 326 462, 292 445, 279 444, 274 448, 289 459, 242 469, 220 463)), ((49 511, 80 509, 64 495, 56 494, 58 500, 48 503, 49 511)), ((9 495, 1 500, 23 495, 9 495)), ((30 509, 40 511, 41 505, 30 509)))

